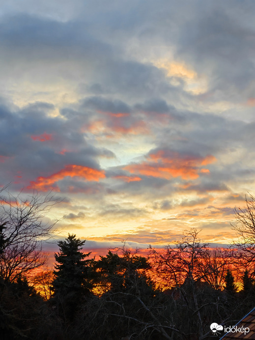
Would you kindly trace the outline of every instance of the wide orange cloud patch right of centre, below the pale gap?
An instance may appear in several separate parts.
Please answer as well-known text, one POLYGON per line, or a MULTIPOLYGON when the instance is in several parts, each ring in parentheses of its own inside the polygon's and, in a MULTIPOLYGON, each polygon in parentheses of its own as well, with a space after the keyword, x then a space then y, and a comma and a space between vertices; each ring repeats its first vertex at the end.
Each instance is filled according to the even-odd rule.
POLYGON ((131 173, 140 173, 145 176, 170 179, 181 177, 182 179, 196 179, 200 172, 208 172, 208 169, 199 169, 216 161, 212 155, 206 157, 180 156, 177 152, 166 152, 159 150, 150 154, 147 162, 142 164, 131 164, 124 168, 131 173))

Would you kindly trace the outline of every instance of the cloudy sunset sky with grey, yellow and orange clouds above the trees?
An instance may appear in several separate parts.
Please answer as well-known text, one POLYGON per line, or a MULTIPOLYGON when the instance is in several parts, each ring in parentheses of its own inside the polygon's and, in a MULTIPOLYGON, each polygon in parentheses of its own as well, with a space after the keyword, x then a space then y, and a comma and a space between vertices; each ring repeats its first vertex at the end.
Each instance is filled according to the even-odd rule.
POLYGON ((235 237, 255 193, 255 1, 0 1, 0 185, 91 249, 235 237), (116 243, 117 242, 117 243, 116 243))

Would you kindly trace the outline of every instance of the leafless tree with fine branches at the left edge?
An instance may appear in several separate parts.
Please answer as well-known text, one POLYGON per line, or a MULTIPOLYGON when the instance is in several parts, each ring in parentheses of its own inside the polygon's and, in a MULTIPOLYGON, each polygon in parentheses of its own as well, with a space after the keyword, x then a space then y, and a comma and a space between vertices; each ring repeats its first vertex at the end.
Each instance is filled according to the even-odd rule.
MULTIPOLYGON (((2 192, 3 194, 3 192, 2 192)), ((22 193, 0 196, 0 277, 13 281, 46 263, 43 241, 52 236, 55 223, 43 218, 58 202, 51 194, 22 193)))

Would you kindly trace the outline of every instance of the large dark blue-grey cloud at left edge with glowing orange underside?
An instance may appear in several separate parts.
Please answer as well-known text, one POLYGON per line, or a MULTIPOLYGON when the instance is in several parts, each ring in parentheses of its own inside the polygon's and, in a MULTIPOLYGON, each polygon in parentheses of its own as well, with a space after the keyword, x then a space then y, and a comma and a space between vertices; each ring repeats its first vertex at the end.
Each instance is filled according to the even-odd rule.
POLYGON ((36 187, 45 191, 52 186, 58 190, 56 182, 74 173, 92 180, 92 170, 89 169, 94 169, 93 178, 96 180, 100 176, 96 170, 100 168, 98 160, 115 157, 106 147, 92 145, 80 131, 86 116, 77 113, 68 118, 56 117, 51 115, 53 110, 52 105, 41 102, 15 111, 0 108, 3 183, 14 182, 15 178, 17 190, 19 187, 26 190, 36 187))

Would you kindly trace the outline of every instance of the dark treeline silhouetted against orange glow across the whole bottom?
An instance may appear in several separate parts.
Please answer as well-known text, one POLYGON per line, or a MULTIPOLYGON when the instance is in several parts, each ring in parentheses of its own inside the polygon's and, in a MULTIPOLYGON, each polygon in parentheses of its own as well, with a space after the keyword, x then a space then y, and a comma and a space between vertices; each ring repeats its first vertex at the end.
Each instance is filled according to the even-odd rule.
POLYGON ((239 242, 211 249, 196 229, 163 250, 110 249, 95 259, 76 235, 58 242, 54 271, 42 242, 52 197, 2 198, 0 336, 38 340, 215 339, 255 306, 255 199, 236 209, 239 242))

